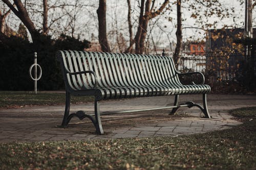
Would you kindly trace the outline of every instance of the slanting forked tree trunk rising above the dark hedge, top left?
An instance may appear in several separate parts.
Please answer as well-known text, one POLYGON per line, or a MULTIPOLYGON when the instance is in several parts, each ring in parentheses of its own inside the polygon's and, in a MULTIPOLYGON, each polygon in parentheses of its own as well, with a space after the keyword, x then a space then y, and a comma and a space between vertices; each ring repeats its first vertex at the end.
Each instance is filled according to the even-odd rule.
POLYGON ((8 0, 2 0, 11 10, 12 12, 24 23, 24 25, 29 30, 31 34, 33 42, 37 40, 39 36, 39 32, 36 30, 34 23, 30 19, 26 8, 23 6, 20 0, 14 0, 14 4, 17 9, 12 5, 8 0))

